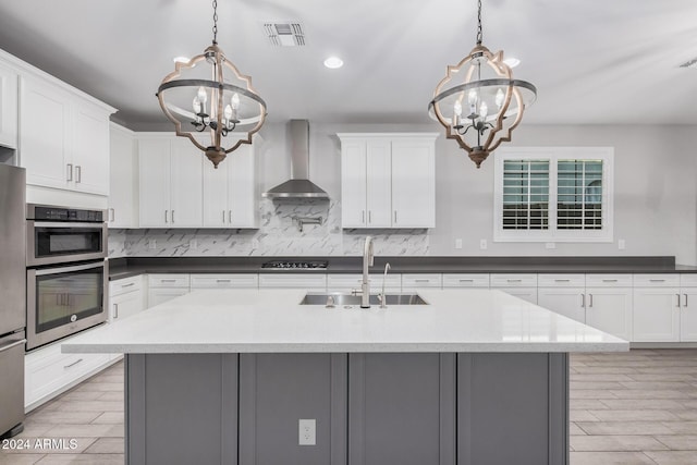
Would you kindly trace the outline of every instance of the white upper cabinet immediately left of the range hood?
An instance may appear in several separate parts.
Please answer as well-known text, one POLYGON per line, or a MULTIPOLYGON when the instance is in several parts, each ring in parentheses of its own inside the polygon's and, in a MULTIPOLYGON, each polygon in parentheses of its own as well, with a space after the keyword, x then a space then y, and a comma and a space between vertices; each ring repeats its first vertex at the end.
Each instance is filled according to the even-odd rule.
POLYGON ((248 144, 228 154, 218 169, 204 159, 204 228, 259 227, 258 159, 248 144))

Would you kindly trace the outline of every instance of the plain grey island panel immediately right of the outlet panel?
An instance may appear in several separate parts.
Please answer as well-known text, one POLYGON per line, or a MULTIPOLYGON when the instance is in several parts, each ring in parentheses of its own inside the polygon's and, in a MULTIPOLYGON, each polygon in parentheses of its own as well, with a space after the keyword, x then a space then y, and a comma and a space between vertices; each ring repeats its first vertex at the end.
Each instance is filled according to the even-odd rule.
POLYGON ((455 354, 348 355, 348 464, 455 463, 455 354))

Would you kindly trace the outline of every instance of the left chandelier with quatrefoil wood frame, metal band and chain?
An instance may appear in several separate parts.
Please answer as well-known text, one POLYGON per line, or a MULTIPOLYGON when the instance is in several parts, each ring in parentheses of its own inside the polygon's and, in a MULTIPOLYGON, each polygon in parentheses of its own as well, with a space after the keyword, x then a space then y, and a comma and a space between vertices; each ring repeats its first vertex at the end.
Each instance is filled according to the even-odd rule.
POLYGON ((252 87, 252 78, 241 74, 218 47, 218 2, 212 5, 212 45, 178 62, 156 96, 176 135, 188 137, 218 168, 228 154, 252 144, 252 135, 266 120, 266 102, 252 87), (225 139, 232 133, 234 137, 225 139))

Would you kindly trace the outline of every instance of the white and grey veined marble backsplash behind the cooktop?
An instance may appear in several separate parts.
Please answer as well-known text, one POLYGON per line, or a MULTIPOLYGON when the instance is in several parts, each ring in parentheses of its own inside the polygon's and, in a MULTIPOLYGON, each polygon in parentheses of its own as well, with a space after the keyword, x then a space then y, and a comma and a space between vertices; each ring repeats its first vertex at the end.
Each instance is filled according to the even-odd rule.
POLYGON ((338 201, 271 201, 259 205, 259 229, 109 230, 109 257, 357 256, 366 235, 376 255, 428 255, 428 230, 342 230, 338 201), (298 218, 319 218, 304 224, 298 218))

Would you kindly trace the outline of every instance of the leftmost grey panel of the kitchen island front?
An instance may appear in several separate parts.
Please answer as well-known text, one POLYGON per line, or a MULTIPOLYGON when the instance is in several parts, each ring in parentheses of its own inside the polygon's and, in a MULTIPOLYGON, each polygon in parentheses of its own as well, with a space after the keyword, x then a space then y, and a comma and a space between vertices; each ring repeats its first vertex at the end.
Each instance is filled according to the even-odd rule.
POLYGON ((126 463, 236 465, 237 359, 126 355, 126 463))

